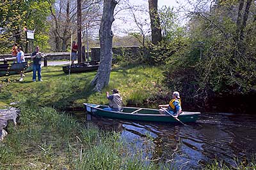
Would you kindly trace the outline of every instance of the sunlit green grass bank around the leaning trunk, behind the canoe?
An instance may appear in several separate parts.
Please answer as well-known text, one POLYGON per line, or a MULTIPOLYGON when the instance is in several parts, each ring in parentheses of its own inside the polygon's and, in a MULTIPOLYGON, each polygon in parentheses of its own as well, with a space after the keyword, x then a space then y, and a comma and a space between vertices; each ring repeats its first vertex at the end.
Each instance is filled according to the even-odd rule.
POLYGON ((95 74, 93 71, 67 76, 61 71, 61 67, 56 66, 42 69, 44 82, 32 82, 32 73, 26 73, 21 83, 17 82, 19 75, 10 76, 12 83, 3 89, 0 102, 22 101, 67 110, 81 108, 83 103, 107 104, 106 92, 116 88, 120 91, 125 105, 140 106, 147 103, 148 97, 156 94, 156 84, 162 78, 159 67, 116 67, 111 72, 109 86, 102 93, 95 93, 90 86, 95 74))

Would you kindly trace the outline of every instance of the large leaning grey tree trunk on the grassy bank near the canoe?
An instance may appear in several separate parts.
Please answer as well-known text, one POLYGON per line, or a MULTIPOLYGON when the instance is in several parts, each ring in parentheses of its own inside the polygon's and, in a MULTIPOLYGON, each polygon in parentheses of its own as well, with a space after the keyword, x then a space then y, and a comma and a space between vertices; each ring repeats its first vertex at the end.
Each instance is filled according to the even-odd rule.
POLYGON ((100 65, 98 72, 92 80, 94 90, 100 92, 109 83, 112 64, 112 23, 115 20, 113 13, 118 2, 115 0, 104 0, 102 19, 100 23, 100 65))

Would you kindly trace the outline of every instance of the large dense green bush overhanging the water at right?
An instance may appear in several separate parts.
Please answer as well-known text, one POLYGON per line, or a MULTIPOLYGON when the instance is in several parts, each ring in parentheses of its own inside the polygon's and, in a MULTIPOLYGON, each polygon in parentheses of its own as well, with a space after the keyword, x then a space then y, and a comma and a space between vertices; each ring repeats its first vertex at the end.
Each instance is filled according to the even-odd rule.
POLYGON ((211 11, 194 13, 188 24, 189 39, 166 62, 164 82, 186 94, 185 102, 204 106, 213 97, 253 96, 256 92, 255 24, 248 22, 241 52, 232 5, 225 1, 211 11))

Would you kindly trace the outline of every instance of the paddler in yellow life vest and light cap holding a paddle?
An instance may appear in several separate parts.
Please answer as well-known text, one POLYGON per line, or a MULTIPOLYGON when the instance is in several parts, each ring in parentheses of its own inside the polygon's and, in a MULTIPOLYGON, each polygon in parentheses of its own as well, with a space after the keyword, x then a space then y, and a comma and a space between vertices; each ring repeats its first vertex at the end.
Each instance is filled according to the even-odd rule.
MULTIPOLYGON (((179 92, 173 92, 172 100, 169 104, 159 105, 159 108, 168 108, 168 111, 174 115, 175 118, 179 117, 181 113, 181 101, 179 92)), ((164 114, 163 109, 159 109, 159 113, 164 114)))

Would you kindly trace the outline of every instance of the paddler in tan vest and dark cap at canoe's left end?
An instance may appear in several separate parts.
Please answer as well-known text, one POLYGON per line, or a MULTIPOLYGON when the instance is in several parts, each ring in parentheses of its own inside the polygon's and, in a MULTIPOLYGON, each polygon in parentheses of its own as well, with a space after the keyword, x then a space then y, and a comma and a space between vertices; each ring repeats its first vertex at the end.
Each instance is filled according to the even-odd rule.
POLYGON ((122 102, 123 99, 120 96, 117 89, 112 90, 113 94, 109 95, 109 92, 107 92, 107 99, 109 99, 109 107, 104 108, 103 110, 109 110, 109 111, 121 111, 122 110, 122 102))

